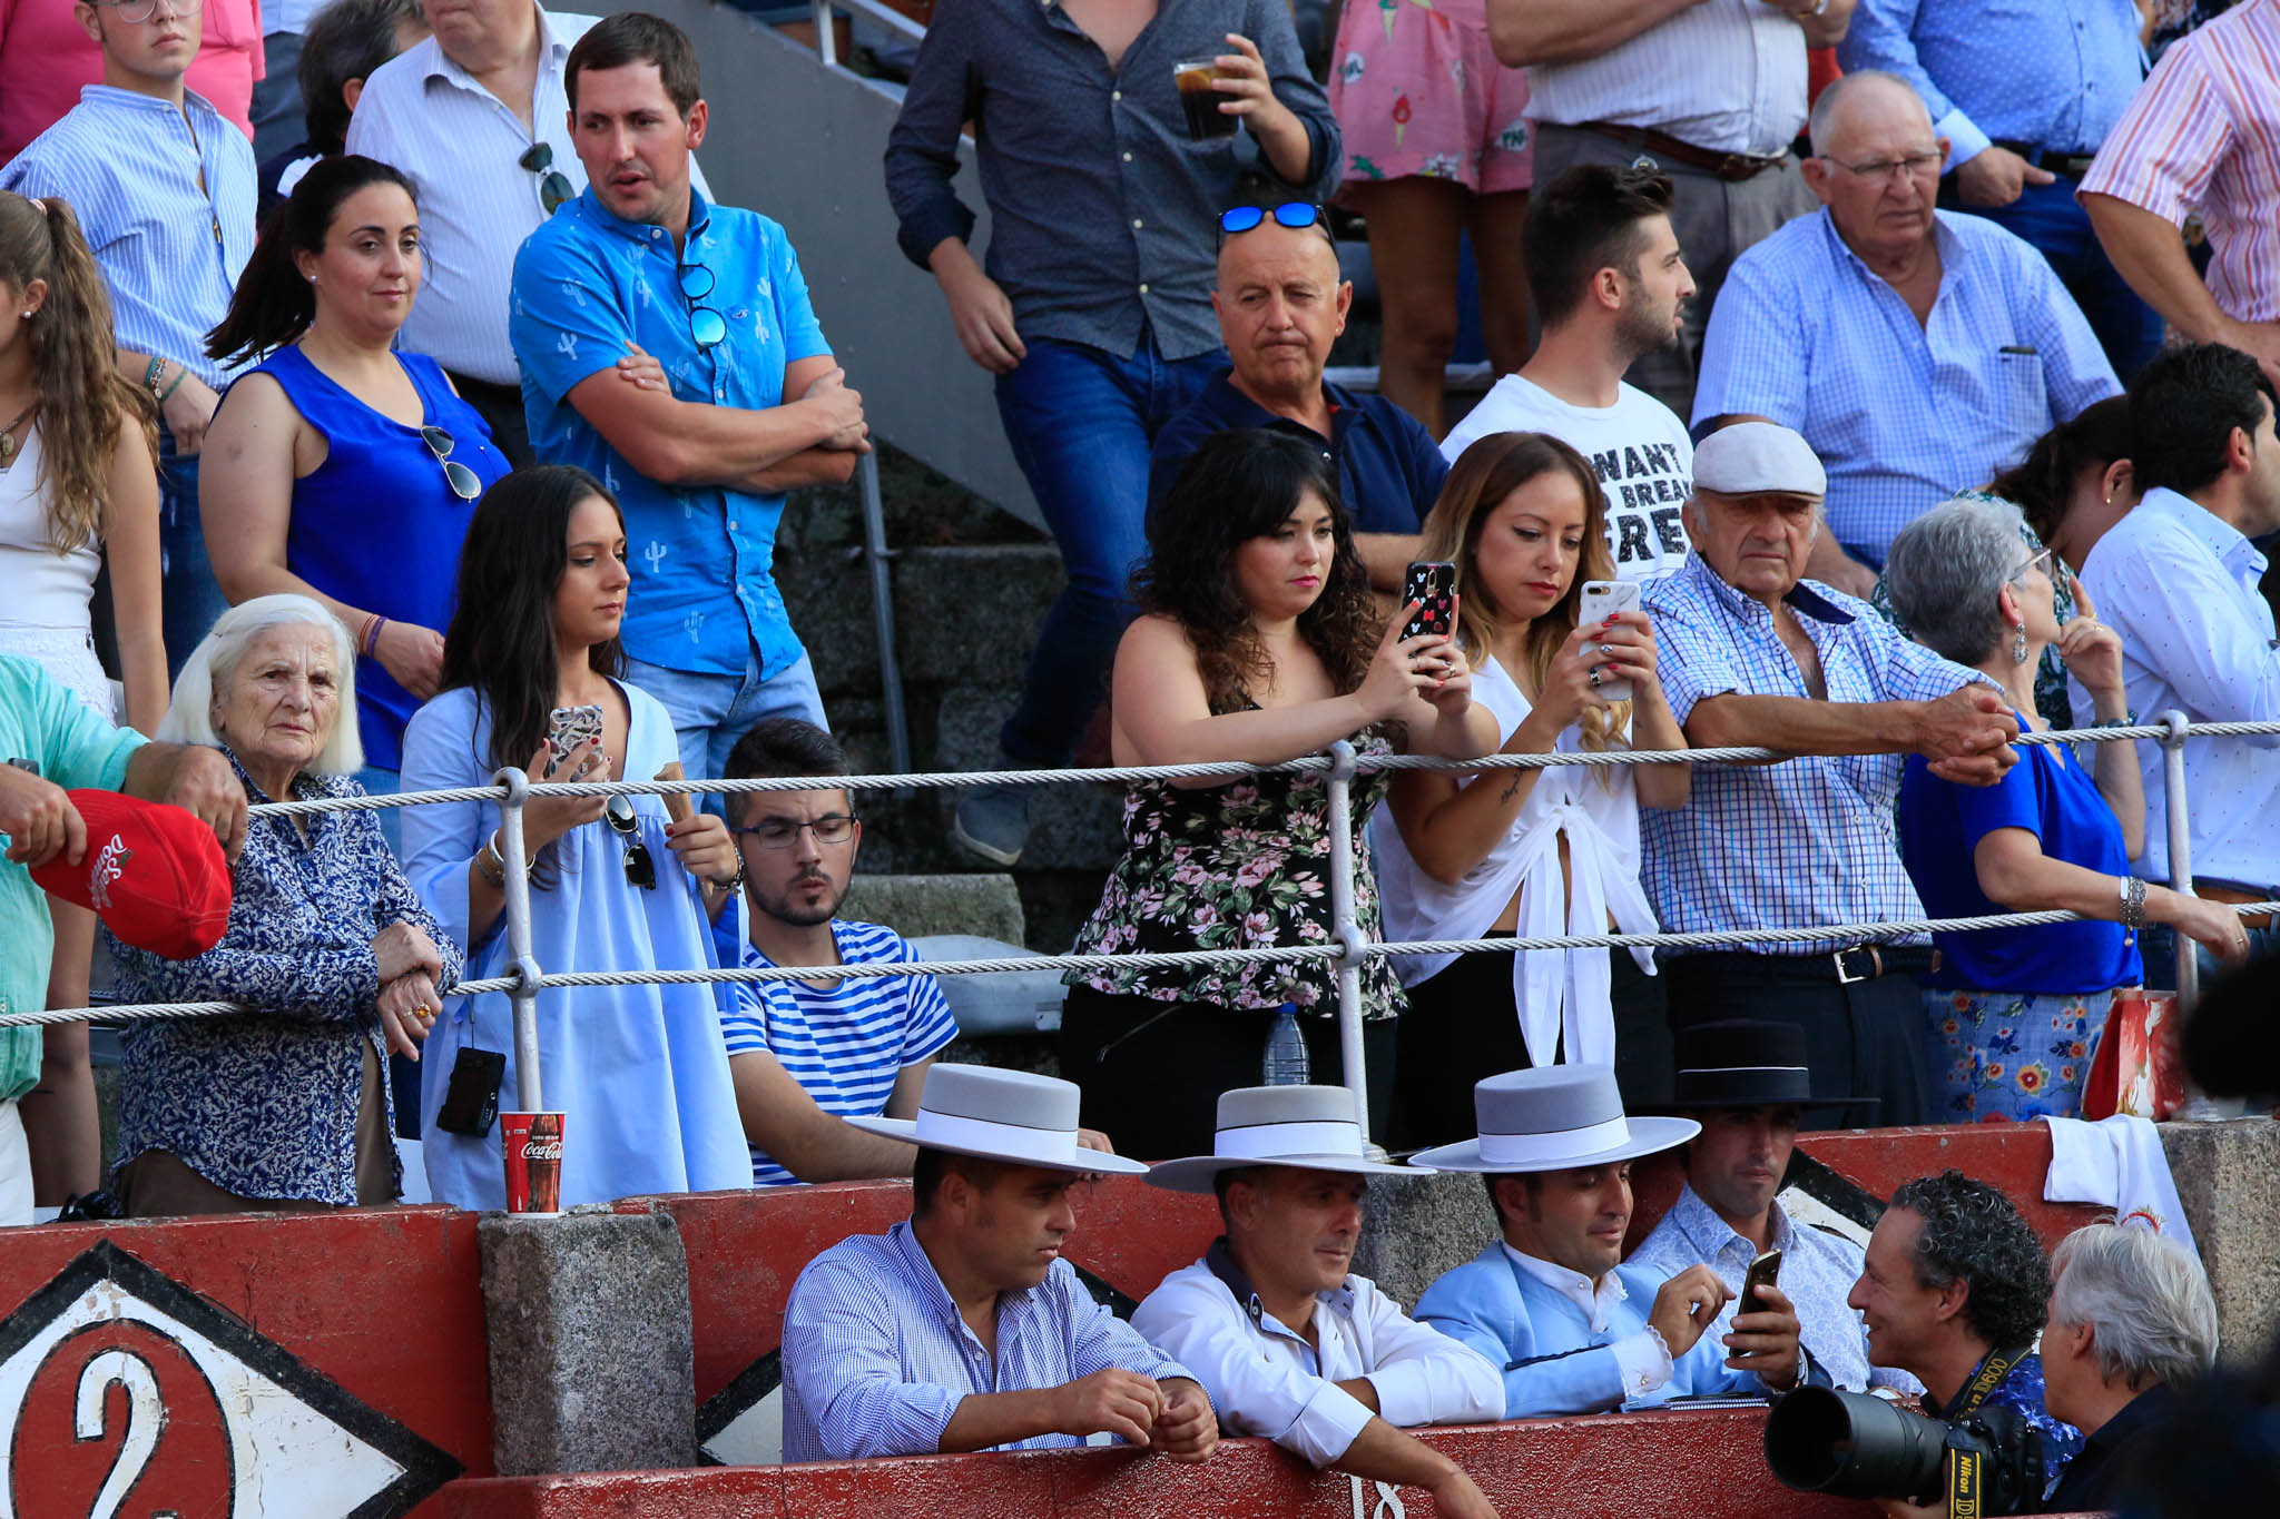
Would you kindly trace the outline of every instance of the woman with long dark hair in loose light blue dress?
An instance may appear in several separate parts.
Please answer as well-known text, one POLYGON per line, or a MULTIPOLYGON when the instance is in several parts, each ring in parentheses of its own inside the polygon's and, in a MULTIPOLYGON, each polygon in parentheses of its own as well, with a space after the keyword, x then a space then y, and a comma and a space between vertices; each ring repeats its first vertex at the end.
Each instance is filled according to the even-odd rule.
MULTIPOLYGON (((679 756, 673 720, 618 679, 632 576, 618 503, 584 469, 518 469, 467 524, 442 695, 404 731, 404 786, 652 779, 679 756), (595 722, 597 713, 597 722, 595 722), (597 731, 597 736, 593 736, 597 731)), ((467 977, 508 968, 506 861, 490 802, 415 806, 406 868, 467 952, 467 977)), ((531 952, 547 970, 702 970, 709 918, 741 870, 727 827, 670 822, 659 797, 547 797, 522 808, 531 952)), ((486 1098, 515 1105, 504 993, 454 997, 422 1054, 420 1114, 438 1202, 504 1207, 486 1098)), ((752 1157, 709 986, 538 993, 540 1084, 568 1114, 563 1207, 752 1184, 752 1157)))

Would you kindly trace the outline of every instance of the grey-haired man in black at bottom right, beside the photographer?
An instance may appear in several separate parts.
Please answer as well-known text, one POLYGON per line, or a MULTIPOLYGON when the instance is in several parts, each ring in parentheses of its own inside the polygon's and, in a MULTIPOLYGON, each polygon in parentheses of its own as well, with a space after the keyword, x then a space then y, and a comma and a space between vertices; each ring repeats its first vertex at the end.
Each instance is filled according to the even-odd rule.
POLYGON ((2084 1442, 2043 1512, 2118 1508, 2177 1435, 2173 1389, 2216 1364, 2216 1298, 2191 1250, 2136 1225, 2079 1227, 2050 1268, 2043 1405, 2084 1442))

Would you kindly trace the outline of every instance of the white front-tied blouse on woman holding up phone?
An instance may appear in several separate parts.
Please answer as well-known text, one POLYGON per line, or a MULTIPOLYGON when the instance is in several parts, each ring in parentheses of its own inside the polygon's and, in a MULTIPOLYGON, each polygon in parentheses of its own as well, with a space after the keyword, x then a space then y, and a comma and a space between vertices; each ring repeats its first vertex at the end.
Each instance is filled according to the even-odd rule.
MULTIPOLYGON (((1487 658, 1473 672, 1473 699, 1496 715, 1498 742, 1528 720, 1530 701, 1512 674, 1487 658)), ((1557 749, 1575 754, 1582 729, 1560 733, 1557 749)), ((1487 772, 1473 786, 1505 786, 1505 772, 1487 772)), ((1605 934, 1612 918, 1623 934, 1653 934, 1655 909, 1639 890, 1639 797, 1628 765, 1553 765, 1537 774, 1512 831, 1455 886, 1425 875, 1409 854, 1393 808, 1370 820, 1370 852, 1377 859, 1377 890, 1386 915, 1386 941, 1482 938, 1503 915, 1514 890, 1521 895, 1521 938, 1560 934, 1605 934), (1605 781, 1601 779, 1605 777, 1605 781), (1560 840, 1569 847, 1569 890, 1560 884, 1560 840), (1566 906, 1562 911, 1562 895, 1566 906)), ((1651 950, 1632 950, 1639 970, 1655 975, 1651 950)), ((1455 961, 1455 954, 1395 956, 1402 986, 1416 986, 1455 961)), ((1528 1059, 1548 1066, 1566 1036, 1575 1064, 1614 1064, 1614 1009, 1610 1004, 1607 954, 1601 950, 1523 950, 1512 956, 1512 1000, 1521 1011, 1528 1059)))

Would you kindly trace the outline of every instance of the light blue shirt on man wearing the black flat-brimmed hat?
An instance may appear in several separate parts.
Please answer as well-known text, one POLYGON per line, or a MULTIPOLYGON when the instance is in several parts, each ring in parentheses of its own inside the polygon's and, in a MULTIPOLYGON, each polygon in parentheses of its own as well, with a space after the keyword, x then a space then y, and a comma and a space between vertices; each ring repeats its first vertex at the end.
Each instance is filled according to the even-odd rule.
MULTIPOLYGON (((1829 1230, 1797 1227, 1781 1202, 1774 1202, 1772 1225, 1769 1239, 1781 1250, 1781 1291, 1797 1307, 1797 1339, 1813 1364, 1829 1373, 1831 1387, 1847 1391, 1890 1387, 1911 1396, 1924 1391, 1924 1385, 1906 1371, 1867 1364, 1867 1332, 1860 1328, 1860 1314, 1845 1303, 1860 1280, 1860 1246, 1829 1230)), ((1726 1282, 1726 1291, 1735 1294, 1703 1335, 1715 1341, 1733 1332, 1733 1316, 1742 1312, 1742 1275, 1753 1259, 1758 1246, 1712 1214, 1689 1182, 1653 1234, 1642 1239, 1623 1264, 1664 1282, 1687 1266, 1710 1266, 1717 1280, 1726 1282)))

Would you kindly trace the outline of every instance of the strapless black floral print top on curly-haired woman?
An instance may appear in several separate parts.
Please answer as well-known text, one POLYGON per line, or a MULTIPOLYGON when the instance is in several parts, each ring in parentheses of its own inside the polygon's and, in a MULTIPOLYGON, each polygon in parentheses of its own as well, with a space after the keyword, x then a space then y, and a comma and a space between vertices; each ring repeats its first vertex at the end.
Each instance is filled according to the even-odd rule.
MULTIPOLYGON (((1382 758, 1393 742, 1382 726, 1354 736, 1354 752, 1382 758)), ((1352 781, 1354 918, 1361 936, 1384 938, 1377 875, 1370 865, 1370 811, 1393 783, 1391 770, 1352 781)), ((1336 943, 1329 918, 1329 779, 1320 772, 1259 774, 1229 786, 1179 788, 1140 781, 1124 797, 1124 856, 1108 872, 1101 904, 1076 931, 1076 954, 1161 954, 1336 943)), ((1256 961, 1199 970, 1072 970, 1072 986, 1156 1002, 1213 1002, 1300 1013, 1338 1011, 1332 961, 1256 961)), ((1361 1016, 1393 1018, 1404 1000, 1393 966, 1361 968, 1361 1016)))

